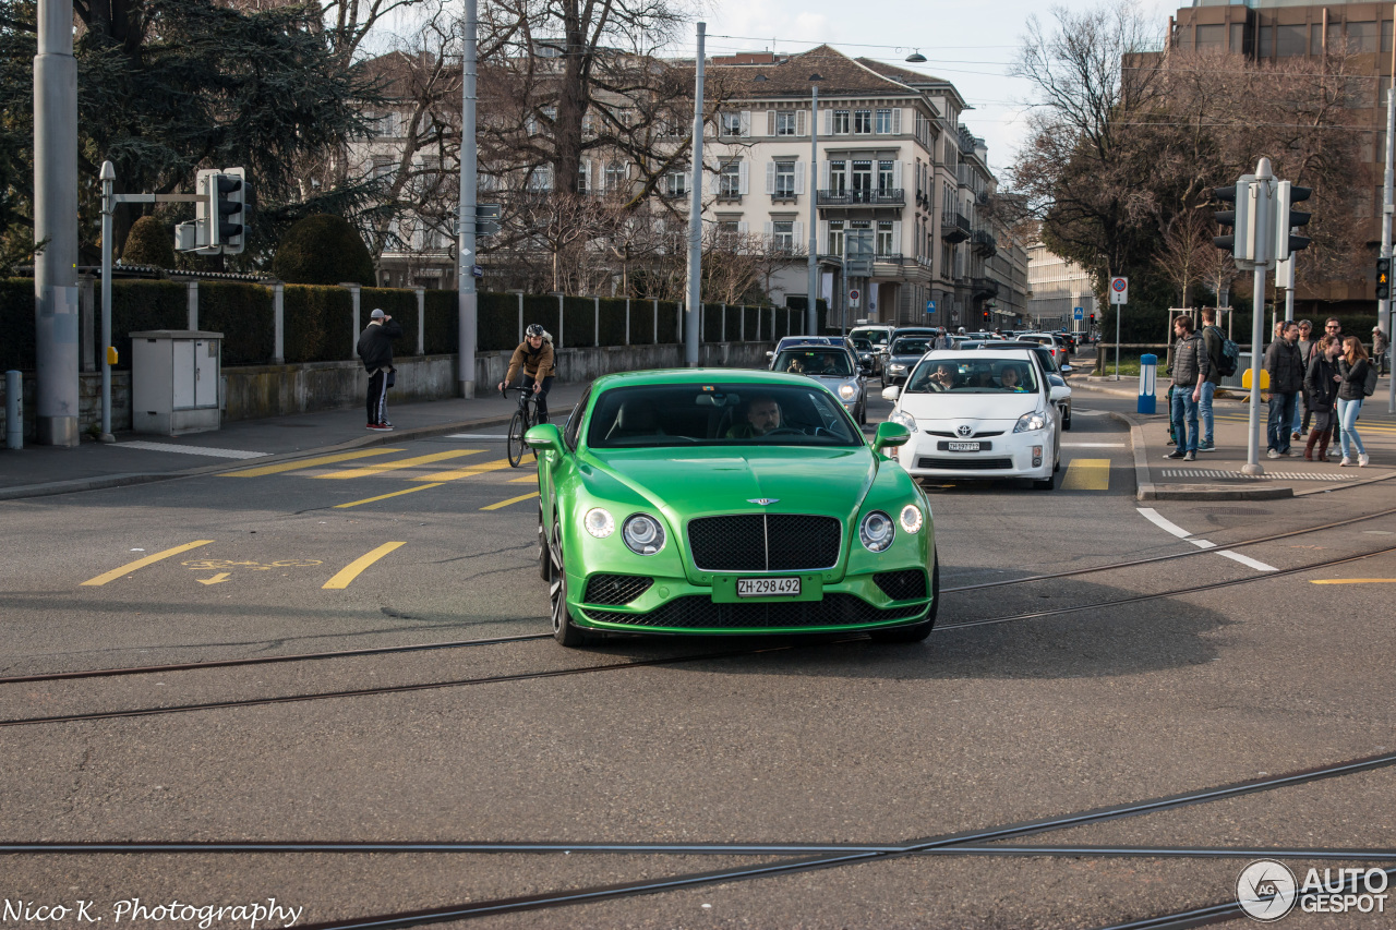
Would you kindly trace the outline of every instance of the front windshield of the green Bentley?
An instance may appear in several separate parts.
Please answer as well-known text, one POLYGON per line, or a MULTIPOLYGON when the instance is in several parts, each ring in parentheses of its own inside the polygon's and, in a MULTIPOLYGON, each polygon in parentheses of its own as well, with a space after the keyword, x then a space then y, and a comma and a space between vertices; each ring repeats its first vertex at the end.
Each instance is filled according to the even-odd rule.
POLYGON ((586 425, 591 448, 863 445, 843 405, 814 383, 611 388, 586 425))

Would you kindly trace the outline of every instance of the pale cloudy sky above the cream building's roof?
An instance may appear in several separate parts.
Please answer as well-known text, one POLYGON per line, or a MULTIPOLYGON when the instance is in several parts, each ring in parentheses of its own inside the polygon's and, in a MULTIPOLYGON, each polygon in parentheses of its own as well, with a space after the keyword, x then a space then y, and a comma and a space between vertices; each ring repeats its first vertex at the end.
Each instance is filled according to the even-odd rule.
MULTIPOLYGON (((1069 10, 1090 10, 1106 0, 1060 0, 1069 10)), ((1168 17, 1187 0, 1136 0, 1159 24, 1160 38, 1168 17)), ((1027 32, 1027 18, 1051 21, 1051 7, 1041 0, 705 0, 701 18, 708 24, 706 53, 738 50, 800 52, 821 42, 850 57, 870 57, 898 67, 934 74, 955 84, 974 108, 960 117, 974 135, 988 144, 988 163, 1004 176, 1026 134, 1026 103, 1032 87, 1008 77, 1027 32), (741 38, 729 38, 741 36, 741 38), (928 60, 903 59, 920 52, 928 60)), ((692 56, 697 31, 681 50, 692 56)))

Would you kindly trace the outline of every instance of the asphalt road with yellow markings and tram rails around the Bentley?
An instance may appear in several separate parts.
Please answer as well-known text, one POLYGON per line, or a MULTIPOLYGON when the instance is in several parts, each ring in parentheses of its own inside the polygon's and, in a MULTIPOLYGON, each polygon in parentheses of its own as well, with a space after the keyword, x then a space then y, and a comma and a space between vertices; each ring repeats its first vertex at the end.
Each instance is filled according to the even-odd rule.
MULTIPOLYGON (((870 419, 889 408, 874 401, 870 419)), ((0 726, 0 839, 899 846, 1396 751, 1396 553, 1379 552, 1396 547, 1396 519, 1248 546, 1241 560, 1177 535, 1224 547, 1396 508, 1396 493, 1374 485, 1142 511, 1129 434, 1085 392, 1064 440, 1058 490, 928 489, 948 591, 940 628, 914 647, 613 640, 567 651, 536 638, 0 684, 0 723, 438 686, 0 726), (1175 553, 1191 554, 952 591, 1175 553), (1240 584, 1168 593, 1228 581, 1240 584), (553 672, 563 674, 540 677, 553 672)), ((11 540, 0 674, 546 634, 532 469, 501 468, 498 438, 364 451, 374 454, 0 504, 11 540)), ((1375 768, 1013 842, 1396 852, 1393 795, 1396 771, 1375 768)), ((469 923, 1092 927, 1234 901, 1255 857, 881 856, 469 923)), ((296 926, 787 860, 582 849, 0 856, 7 899, 91 901, 107 924, 133 898, 276 898, 303 909, 296 926)), ((1293 867, 1302 878, 1309 864, 1293 867)))

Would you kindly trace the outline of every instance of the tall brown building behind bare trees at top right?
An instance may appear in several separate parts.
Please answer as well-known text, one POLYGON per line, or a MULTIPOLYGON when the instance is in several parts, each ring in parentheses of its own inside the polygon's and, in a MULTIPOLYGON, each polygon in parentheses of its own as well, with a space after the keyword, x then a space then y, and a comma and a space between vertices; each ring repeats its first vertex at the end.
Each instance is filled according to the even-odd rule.
MULTIPOLYGON (((1386 3, 1297 3, 1295 0, 1194 0, 1168 17, 1168 49, 1196 53, 1234 52, 1255 61, 1321 56, 1332 49, 1353 53, 1356 75, 1349 87, 1353 131, 1365 154, 1367 190, 1357 215, 1371 218, 1371 242, 1381 239, 1382 170, 1385 159, 1385 89, 1392 85, 1392 13, 1386 3)), ((1374 251, 1375 256, 1375 251, 1374 251)), ((1369 310, 1375 300, 1371 274, 1357 281, 1300 281, 1295 299, 1305 311, 1369 310)))

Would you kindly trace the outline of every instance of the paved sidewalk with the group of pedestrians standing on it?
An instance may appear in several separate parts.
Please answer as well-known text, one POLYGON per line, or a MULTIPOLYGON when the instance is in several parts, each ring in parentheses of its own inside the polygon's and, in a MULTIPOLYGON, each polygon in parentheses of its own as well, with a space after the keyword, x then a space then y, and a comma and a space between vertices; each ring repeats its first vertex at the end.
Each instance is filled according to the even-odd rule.
MULTIPOLYGON (((1132 427, 1135 450, 1135 478, 1139 486, 1139 500, 1265 500, 1276 497, 1304 497, 1326 492, 1361 487, 1375 480, 1396 478, 1396 416, 1386 412, 1388 378, 1381 378, 1376 392, 1367 398, 1357 423, 1357 431, 1367 445, 1372 462, 1367 468, 1340 468, 1343 454, 1336 444, 1329 445, 1329 462, 1304 459, 1304 445, 1308 441, 1291 440, 1289 458, 1266 458, 1265 425, 1268 405, 1262 401, 1259 409, 1259 465, 1262 475, 1245 475, 1249 436, 1249 392, 1241 394, 1231 388, 1235 397, 1216 398, 1213 402, 1217 451, 1198 452, 1198 461, 1167 458, 1173 451, 1168 443, 1167 395, 1170 381, 1159 380, 1157 413, 1138 413, 1138 378, 1114 381, 1087 381, 1072 374, 1069 384, 1078 401, 1090 398, 1104 401, 1101 409, 1128 420, 1132 427), (1108 401, 1107 401, 1108 398, 1108 401)), ((1315 455, 1318 450, 1315 447, 1315 455)), ((1356 450, 1353 455, 1356 464, 1356 450)))

